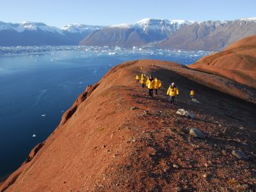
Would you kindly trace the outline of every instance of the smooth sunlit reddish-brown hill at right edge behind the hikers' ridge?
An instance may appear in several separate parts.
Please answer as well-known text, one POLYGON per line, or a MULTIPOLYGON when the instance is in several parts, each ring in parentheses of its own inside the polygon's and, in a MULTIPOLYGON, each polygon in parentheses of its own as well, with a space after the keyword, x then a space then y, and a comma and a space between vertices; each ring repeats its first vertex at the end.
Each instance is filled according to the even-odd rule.
POLYGON ((201 58, 189 67, 256 88, 256 35, 243 38, 220 53, 201 58))

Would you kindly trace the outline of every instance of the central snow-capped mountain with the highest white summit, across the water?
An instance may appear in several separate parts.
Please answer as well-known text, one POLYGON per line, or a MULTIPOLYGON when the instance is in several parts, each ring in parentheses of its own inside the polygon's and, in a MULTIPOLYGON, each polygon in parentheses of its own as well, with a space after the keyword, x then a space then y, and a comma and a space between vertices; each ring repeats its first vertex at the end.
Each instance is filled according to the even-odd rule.
POLYGON ((111 25, 87 36, 81 45, 90 46, 143 46, 168 38, 182 26, 193 21, 144 18, 136 23, 111 25))

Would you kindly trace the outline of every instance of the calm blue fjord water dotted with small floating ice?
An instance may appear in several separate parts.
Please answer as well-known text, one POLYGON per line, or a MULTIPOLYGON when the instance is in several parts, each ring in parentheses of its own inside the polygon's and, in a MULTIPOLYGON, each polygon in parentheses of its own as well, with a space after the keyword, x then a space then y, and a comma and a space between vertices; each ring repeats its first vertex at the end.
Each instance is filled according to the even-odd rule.
POLYGON ((85 87, 114 65, 137 59, 186 65, 208 54, 119 47, 0 48, 0 179, 17 169, 31 149, 53 132, 85 87))

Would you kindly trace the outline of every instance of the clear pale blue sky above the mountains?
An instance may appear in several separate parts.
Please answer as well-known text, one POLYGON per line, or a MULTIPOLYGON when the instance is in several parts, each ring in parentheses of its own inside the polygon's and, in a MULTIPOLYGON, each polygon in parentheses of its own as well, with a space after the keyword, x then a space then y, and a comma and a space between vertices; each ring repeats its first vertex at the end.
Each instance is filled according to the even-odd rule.
POLYGON ((110 25, 141 18, 193 21, 256 17, 256 0, 1 0, 0 21, 110 25))

